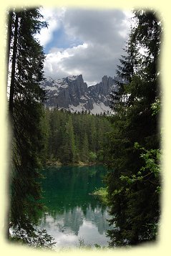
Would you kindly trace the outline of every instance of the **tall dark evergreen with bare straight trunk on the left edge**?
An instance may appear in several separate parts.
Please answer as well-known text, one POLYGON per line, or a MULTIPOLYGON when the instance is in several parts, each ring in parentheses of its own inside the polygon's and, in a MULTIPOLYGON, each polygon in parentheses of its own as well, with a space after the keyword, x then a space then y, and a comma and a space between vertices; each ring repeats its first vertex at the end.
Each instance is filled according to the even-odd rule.
POLYGON ((41 209, 41 175, 38 169, 44 148, 41 121, 45 95, 39 82, 43 80, 44 53, 34 37, 41 27, 46 26, 40 22, 41 17, 38 8, 9 12, 7 60, 9 114, 13 131, 9 219, 14 234, 20 234, 21 240, 28 243, 29 237, 35 237, 34 224, 41 209))

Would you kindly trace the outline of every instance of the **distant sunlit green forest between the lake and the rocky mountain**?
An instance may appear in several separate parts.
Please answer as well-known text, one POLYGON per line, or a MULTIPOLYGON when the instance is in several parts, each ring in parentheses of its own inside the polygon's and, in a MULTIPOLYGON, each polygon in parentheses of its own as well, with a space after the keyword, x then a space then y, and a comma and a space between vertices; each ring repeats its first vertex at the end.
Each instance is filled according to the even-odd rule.
POLYGON ((66 110, 47 108, 43 122, 43 159, 47 162, 102 162, 105 135, 112 131, 106 115, 90 115, 87 112, 72 114, 66 110))

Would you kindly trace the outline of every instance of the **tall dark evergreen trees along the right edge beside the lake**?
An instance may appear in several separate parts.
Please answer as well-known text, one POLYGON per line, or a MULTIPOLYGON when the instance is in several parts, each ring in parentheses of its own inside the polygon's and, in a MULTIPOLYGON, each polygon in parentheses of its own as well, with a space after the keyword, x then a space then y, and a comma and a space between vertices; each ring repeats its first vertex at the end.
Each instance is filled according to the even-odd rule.
POLYGON ((152 104, 160 93, 161 23, 152 11, 135 11, 135 19, 137 26, 130 34, 133 44, 128 44, 128 56, 121 60, 118 72, 127 81, 119 84, 119 99, 123 95, 128 98, 124 104, 118 99, 104 156, 114 169, 107 176, 109 223, 114 224, 108 231, 112 246, 155 240, 160 217, 160 175, 155 168, 159 164, 159 116, 152 115, 152 104), (137 52, 141 47, 144 55, 137 52))

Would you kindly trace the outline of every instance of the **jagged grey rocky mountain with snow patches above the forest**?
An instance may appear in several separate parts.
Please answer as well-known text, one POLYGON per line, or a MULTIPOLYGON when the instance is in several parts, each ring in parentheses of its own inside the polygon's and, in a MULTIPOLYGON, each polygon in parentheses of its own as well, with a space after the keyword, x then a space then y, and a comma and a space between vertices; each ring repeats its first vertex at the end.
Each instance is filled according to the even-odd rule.
POLYGON ((102 82, 87 87, 82 75, 74 75, 54 80, 48 77, 41 83, 47 92, 45 105, 49 108, 65 108, 72 112, 88 110, 91 113, 104 113, 109 108, 109 94, 114 87, 114 79, 102 77, 102 82))

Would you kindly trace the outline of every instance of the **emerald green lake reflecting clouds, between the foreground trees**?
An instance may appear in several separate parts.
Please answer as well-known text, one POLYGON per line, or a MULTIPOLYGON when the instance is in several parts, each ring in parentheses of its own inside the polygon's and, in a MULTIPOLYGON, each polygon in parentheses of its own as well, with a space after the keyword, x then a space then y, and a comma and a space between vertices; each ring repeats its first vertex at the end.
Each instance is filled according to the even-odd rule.
POLYGON ((42 200, 47 207, 39 219, 39 228, 54 237, 57 247, 108 245, 107 207, 91 193, 104 186, 104 166, 62 166, 43 171, 42 200))

